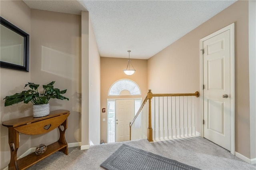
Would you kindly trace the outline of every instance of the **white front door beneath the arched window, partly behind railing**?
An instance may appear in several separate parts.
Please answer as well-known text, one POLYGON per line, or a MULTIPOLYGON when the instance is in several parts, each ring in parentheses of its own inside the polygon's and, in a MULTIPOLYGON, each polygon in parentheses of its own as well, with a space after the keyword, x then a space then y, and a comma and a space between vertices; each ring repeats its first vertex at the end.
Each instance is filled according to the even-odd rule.
POLYGON ((130 140, 130 122, 134 118, 134 99, 116 100, 116 142, 130 140))

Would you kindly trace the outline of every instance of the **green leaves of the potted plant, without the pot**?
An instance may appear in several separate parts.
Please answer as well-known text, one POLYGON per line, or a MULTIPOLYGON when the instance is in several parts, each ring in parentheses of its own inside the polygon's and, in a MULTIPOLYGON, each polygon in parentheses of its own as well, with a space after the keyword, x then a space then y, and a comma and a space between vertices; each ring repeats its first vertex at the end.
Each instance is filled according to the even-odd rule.
MULTIPOLYGON (((52 81, 48 85, 43 85, 43 93, 38 92, 38 87, 39 85, 34 84, 34 83, 28 83, 25 85, 25 87, 30 87, 29 90, 22 91, 21 93, 15 93, 14 95, 11 96, 6 96, 4 98, 4 106, 10 106, 14 105, 16 103, 20 103, 24 101, 24 103, 32 102, 33 105, 42 105, 42 104, 47 104, 50 99, 67 99, 68 98, 62 96, 61 94, 66 93, 67 90, 62 90, 54 88, 55 81, 52 81)), ((24 88, 25 88, 24 87, 24 88)))

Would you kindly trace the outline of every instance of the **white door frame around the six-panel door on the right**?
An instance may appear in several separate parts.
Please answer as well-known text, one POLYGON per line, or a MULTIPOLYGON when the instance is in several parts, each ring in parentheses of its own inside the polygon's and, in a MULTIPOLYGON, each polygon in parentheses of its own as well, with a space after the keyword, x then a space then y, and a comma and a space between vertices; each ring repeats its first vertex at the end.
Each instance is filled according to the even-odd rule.
POLYGON ((235 154, 235 24, 232 23, 200 40, 200 136, 204 137, 204 60, 203 42, 230 30, 230 153, 235 154))

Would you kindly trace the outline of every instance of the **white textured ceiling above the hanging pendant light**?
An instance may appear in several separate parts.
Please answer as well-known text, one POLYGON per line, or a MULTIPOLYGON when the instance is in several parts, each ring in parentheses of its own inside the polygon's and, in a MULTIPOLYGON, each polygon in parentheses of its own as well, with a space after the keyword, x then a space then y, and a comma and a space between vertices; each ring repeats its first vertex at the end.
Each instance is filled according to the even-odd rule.
MULTIPOLYGON (((102 57, 148 59, 236 0, 24 0, 34 9, 89 11, 102 57)), ((199 42, 198 42, 199 43, 199 42)))

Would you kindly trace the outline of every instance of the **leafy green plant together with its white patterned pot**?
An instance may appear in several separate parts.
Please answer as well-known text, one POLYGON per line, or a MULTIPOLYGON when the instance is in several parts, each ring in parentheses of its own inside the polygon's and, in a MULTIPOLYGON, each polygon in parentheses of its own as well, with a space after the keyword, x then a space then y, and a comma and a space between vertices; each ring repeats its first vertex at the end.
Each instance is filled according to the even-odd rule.
MULTIPOLYGON (((25 87, 30 87, 29 90, 22 91, 20 93, 15 93, 11 96, 6 96, 4 98, 4 106, 14 105, 16 103, 20 103, 24 101, 24 103, 31 102, 33 103, 33 116, 34 117, 44 117, 49 115, 49 100, 50 99, 67 99, 68 98, 62 96, 61 94, 66 93, 67 90, 62 90, 54 88, 55 81, 52 81, 48 85, 43 85, 44 91, 42 93, 38 92, 39 85, 34 83, 28 83, 25 87)), ((24 88, 25 88, 24 87, 24 88)))

